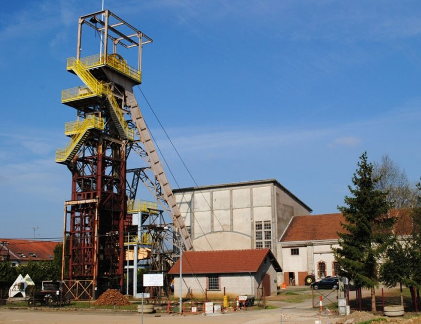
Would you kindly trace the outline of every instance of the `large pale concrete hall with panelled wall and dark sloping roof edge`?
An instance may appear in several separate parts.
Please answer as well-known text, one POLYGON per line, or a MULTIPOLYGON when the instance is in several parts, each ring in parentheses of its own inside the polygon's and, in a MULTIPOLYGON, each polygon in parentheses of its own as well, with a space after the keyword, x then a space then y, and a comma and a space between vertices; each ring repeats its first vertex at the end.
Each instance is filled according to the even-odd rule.
POLYGON ((282 260, 281 234, 294 215, 312 211, 275 179, 173 192, 197 251, 270 248, 282 260))

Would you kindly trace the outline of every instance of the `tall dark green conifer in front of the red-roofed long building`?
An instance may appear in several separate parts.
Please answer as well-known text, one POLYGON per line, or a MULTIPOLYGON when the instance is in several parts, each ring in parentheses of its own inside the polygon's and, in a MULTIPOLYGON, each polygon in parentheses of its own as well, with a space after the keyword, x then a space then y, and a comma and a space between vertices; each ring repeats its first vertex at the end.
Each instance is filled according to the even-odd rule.
POLYGON ((339 248, 333 248, 339 263, 339 274, 354 281, 357 287, 371 289, 371 310, 376 311, 375 287, 378 285, 378 259, 390 239, 394 220, 387 212, 386 193, 376 190, 378 179, 373 178, 373 165, 364 152, 352 177, 351 193, 345 196, 345 205, 339 207, 345 222, 345 233, 338 233, 339 248))

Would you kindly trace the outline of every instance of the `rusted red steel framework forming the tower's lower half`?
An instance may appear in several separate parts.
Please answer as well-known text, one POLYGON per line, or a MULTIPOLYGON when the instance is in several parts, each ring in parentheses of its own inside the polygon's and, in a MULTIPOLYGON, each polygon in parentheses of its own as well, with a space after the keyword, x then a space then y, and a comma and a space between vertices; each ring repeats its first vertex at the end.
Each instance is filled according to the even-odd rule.
POLYGON ((121 287, 127 210, 125 145, 103 133, 93 135, 73 166, 72 201, 66 206, 68 278, 92 278, 101 290, 121 287))

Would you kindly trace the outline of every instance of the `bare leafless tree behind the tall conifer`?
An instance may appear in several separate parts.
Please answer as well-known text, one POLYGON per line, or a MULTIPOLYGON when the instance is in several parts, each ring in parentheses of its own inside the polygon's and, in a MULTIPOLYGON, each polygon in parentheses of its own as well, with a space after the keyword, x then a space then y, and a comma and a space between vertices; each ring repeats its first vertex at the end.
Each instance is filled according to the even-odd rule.
POLYGON ((406 172, 388 154, 373 163, 373 177, 379 180, 376 189, 387 192, 387 200, 394 208, 412 208, 417 204, 417 190, 406 172))

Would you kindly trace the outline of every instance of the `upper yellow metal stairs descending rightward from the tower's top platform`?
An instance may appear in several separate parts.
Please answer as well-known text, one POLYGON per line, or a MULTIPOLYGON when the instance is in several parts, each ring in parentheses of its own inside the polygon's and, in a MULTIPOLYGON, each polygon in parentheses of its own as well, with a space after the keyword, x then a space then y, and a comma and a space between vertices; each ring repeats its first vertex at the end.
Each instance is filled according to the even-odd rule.
POLYGON ((77 60, 74 57, 67 59, 67 70, 72 70, 82 81, 86 84, 92 94, 102 96, 106 95, 109 101, 109 108, 111 118, 117 127, 117 130, 124 139, 134 140, 134 131, 128 127, 126 119, 118 106, 117 100, 115 99, 110 86, 94 78, 87 70, 87 67, 82 63, 81 60, 77 60))

